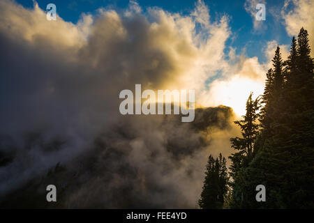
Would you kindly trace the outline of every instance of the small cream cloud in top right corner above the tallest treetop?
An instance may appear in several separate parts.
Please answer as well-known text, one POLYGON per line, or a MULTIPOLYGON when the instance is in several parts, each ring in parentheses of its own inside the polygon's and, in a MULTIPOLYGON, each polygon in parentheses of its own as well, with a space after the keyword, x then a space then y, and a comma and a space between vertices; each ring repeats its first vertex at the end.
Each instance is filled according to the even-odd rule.
MULTIPOLYGON (((281 15, 285 20, 287 33, 297 37, 303 26, 308 31, 311 49, 314 49, 314 1, 286 0, 281 15)), ((311 56, 314 56, 313 50, 311 56)))

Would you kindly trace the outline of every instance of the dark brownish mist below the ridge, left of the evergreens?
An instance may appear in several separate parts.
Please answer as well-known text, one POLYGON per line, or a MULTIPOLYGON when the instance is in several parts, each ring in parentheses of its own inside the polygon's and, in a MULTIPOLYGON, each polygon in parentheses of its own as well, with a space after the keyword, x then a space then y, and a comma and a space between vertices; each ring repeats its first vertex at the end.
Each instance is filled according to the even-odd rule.
POLYGON ((195 123, 187 125, 173 116, 138 116, 114 134, 103 134, 98 144, 106 147, 84 155, 85 162, 93 160, 84 168, 94 171, 86 182, 70 187, 66 206, 196 208, 209 153, 230 155, 228 137, 237 132, 230 112, 227 107, 197 110, 195 123), (204 132, 194 130, 203 125, 204 132))

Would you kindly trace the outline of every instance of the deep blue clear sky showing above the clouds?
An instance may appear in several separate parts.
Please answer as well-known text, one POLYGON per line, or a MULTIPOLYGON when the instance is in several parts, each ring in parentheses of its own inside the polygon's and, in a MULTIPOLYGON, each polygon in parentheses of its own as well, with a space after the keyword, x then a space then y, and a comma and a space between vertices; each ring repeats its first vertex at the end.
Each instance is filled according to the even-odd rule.
MULTIPOLYGON (((78 1, 60 1, 60 0, 38 0, 38 6, 45 10, 48 3, 54 3, 57 6, 57 13, 63 20, 76 23, 82 13, 96 13, 98 8, 114 8, 123 10, 128 7, 128 0, 78 0, 78 1)), ((17 0, 26 8, 32 8, 31 0, 17 0)), ((190 13, 195 7, 196 1, 179 0, 138 0, 137 3, 145 10, 148 7, 159 7, 172 13, 181 13, 182 15, 190 13)), ((253 28, 253 19, 244 8, 245 1, 234 0, 205 0, 204 3, 209 6, 211 20, 218 20, 223 15, 229 17, 229 26, 232 36, 227 40, 225 52, 228 52, 230 46, 236 49, 237 54, 244 53, 248 57, 257 56, 263 63, 266 58, 263 54, 264 46, 268 41, 276 40, 280 45, 290 45, 291 37, 287 35, 280 12, 284 1, 266 1, 266 21, 263 22, 263 29, 255 30, 253 28), (274 17, 274 15, 279 15, 274 17)))

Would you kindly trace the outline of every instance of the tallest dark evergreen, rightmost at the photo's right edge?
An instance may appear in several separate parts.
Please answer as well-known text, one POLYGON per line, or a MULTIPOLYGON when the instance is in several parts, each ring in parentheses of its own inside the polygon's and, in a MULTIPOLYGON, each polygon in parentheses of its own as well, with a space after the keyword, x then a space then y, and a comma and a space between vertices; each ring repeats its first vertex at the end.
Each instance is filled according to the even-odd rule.
MULTIPOLYGON (((297 40, 296 70, 289 83, 290 99, 287 106, 288 139, 285 141, 290 152, 291 183, 286 203, 292 208, 313 208, 314 204, 314 72, 308 32, 302 27, 297 40), (311 177, 312 176, 312 177, 311 177)), ((290 56, 292 56, 290 54, 290 56)))

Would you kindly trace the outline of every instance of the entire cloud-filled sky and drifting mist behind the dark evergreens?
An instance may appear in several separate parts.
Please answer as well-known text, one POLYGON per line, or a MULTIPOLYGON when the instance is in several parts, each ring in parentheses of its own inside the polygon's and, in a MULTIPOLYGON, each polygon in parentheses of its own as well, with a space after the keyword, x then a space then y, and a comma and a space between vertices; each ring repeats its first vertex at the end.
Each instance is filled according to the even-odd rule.
POLYGON ((80 157, 98 171, 68 165, 87 171, 90 183, 73 192, 73 203, 106 203, 99 194, 132 185, 133 197, 156 199, 155 207, 193 208, 208 155, 232 153, 233 121, 251 91, 263 93, 277 45, 287 58, 304 26, 314 47, 313 0, 1 0, 0 15, 0 153, 13 157, 0 168, 0 199, 80 157), (57 20, 47 20, 47 3, 57 6, 57 20), (264 21, 255 20, 257 3, 266 5, 264 21), (195 90, 196 107, 214 107, 208 128, 195 132, 157 115, 121 118, 119 93, 135 84, 195 90), (91 151, 94 160, 84 160, 91 151), (109 183, 104 159, 116 170, 109 183), (127 178, 119 172, 126 166, 135 172, 127 178))

